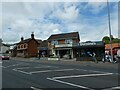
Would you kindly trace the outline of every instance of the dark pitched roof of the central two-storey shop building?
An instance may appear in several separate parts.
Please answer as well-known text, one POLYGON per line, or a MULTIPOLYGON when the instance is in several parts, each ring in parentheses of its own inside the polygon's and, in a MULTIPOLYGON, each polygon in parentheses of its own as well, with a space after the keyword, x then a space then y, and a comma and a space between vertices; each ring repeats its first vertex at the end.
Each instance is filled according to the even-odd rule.
POLYGON ((79 33, 78 32, 71 32, 71 33, 63 33, 63 34, 52 34, 48 41, 51 40, 60 40, 60 39, 79 39, 79 33))

